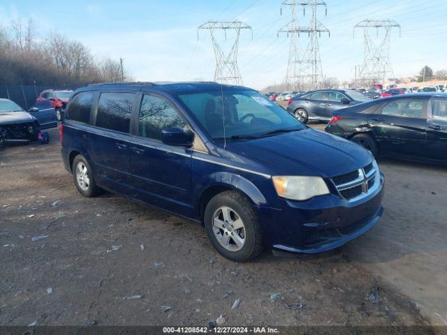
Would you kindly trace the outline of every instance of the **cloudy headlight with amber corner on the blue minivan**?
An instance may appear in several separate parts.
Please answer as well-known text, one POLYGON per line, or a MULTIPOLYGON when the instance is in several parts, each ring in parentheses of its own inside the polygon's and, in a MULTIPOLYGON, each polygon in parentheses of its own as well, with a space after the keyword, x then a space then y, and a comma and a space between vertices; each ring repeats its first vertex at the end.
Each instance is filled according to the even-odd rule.
POLYGON ((281 198, 308 200, 316 195, 329 194, 328 186, 321 177, 274 176, 272 179, 281 198))

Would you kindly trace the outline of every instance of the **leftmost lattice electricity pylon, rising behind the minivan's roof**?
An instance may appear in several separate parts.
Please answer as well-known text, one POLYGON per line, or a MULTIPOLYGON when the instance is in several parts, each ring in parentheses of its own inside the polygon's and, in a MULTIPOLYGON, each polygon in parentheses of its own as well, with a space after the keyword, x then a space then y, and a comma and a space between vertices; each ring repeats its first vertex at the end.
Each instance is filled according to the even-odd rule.
MULTIPOLYGON (((202 24, 197 29, 210 30, 212 45, 214 47, 214 55, 216 56, 216 70, 214 72, 214 81, 220 82, 221 84, 235 84, 242 85, 242 77, 239 72, 239 67, 237 66, 237 49, 239 47, 239 36, 241 29, 250 29, 251 27, 240 21, 233 22, 218 22, 218 21, 208 21, 202 24), (228 29, 234 30, 236 33, 235 41, 228 54, 223 52, 221 45, 217 40, 216 31, 223 30, 226 40, 226 31, 228 29)), ((251 31, 251 37, 253 38, 253 31, 251 31)))

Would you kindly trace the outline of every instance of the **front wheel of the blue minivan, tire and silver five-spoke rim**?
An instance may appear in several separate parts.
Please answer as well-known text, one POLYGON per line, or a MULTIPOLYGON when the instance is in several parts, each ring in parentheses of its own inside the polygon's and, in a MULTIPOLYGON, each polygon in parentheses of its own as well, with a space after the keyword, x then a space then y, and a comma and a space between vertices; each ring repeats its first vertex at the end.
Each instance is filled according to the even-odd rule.
POLYGON ((247 262, 263 250, 263 232, 256 211, 240 193, 215 195, 205 207, 205 230, 223 257, 247 262))

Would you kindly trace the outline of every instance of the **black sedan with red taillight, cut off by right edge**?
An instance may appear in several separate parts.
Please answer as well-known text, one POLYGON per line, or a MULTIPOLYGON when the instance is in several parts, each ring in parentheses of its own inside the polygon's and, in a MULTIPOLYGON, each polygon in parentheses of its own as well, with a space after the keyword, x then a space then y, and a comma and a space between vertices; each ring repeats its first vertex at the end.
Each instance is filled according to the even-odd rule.
POLYGON ((447 163, 447 94, 402 94, 338 110, 325 131, 374 156, 447 163))

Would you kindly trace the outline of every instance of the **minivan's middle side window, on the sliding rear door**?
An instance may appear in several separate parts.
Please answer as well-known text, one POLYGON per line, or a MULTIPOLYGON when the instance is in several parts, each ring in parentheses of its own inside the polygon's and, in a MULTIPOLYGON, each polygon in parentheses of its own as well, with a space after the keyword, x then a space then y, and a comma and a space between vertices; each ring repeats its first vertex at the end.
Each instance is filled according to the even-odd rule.
POLYGON ((101 93, 96 112, 96 126, 129 133, 134 98, 133 93, 101 93))

